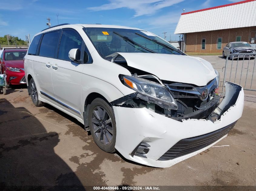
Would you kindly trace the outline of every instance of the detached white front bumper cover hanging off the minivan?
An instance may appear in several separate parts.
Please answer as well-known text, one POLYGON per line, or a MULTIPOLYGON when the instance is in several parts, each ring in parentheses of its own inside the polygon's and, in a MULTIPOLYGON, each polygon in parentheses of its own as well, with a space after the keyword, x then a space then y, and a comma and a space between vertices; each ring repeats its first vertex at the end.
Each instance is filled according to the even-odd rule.
POLYGON ((214 110, 219 114, 214 122, 206 119, 183 119, 180 122, 147 108, 113 106, 117 126, 115 148, 128 160, 153 167, 170 167, 226 137, 242 116, 243 107, 243 88, 230 82, 226 82, 226 95, 219 104, 219 109, 214 110), (191 142, 193 140, 196 143, 191 142), (145 154, 147 158, 133 156, 133 151, 141 142, 150 145, 148 153, 145 154), (182 147, 183 144, 188 147, 186 151, 180 155, 168 155, 178 151, 179 148, 172 150, 182 147))

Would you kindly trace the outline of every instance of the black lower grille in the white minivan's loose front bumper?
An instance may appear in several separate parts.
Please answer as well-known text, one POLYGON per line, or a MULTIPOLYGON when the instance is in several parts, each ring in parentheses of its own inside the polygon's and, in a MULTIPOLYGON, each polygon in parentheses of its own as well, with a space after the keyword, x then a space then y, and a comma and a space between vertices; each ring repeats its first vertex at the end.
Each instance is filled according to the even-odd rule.
POLYGON ((204 148, 208 145, 211 145, 224 135, 226 135, 230 129, 234 127, 236 122, 231 123, 230 125, 223 127, 217 131, 200 135, 197 137, 185 138, 173 145, 165 154, 163 154, 158 160, 159 161, 168 161, 183 155, 195 152, 204 148))

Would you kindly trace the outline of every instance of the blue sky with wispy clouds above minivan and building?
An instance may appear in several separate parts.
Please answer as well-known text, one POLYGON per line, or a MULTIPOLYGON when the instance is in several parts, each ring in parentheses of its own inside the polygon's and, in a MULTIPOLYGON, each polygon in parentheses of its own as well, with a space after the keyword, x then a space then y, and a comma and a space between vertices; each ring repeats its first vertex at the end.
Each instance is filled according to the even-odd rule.
POLYGON ((52 26, 70 24, 114 24, 151 31, 166 40, 174 34, 182 9, 185 12, 224 5, 240 0, 1 0, 0 36, 11 34, 25 40, 52 26), (57 20, 57 16, 58 20, 57 20))

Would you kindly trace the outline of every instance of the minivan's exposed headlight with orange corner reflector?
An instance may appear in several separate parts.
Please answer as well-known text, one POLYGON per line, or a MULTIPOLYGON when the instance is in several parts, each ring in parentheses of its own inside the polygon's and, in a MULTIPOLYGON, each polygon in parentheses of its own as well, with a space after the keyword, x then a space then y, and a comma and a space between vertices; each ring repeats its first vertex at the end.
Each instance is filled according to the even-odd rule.
POLYGON ((124 76, 125 85, 139 92, 142 100, 155 103, 162 108, 177 110, 178 105, 170 92, 162 85, 135 76, 124 76))

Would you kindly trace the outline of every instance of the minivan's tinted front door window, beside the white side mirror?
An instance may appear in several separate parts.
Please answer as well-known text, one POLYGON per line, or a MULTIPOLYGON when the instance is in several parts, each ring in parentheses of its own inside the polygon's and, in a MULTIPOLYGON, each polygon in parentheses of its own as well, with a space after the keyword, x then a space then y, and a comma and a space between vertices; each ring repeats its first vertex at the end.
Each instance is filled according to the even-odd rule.
POLYGON ((71 61, 71 59, 68 57, 68 53, 73 48, 78 48, 81 51, 81 37, 72 30, 63 30, 59 46, 58 58, 71 61))

